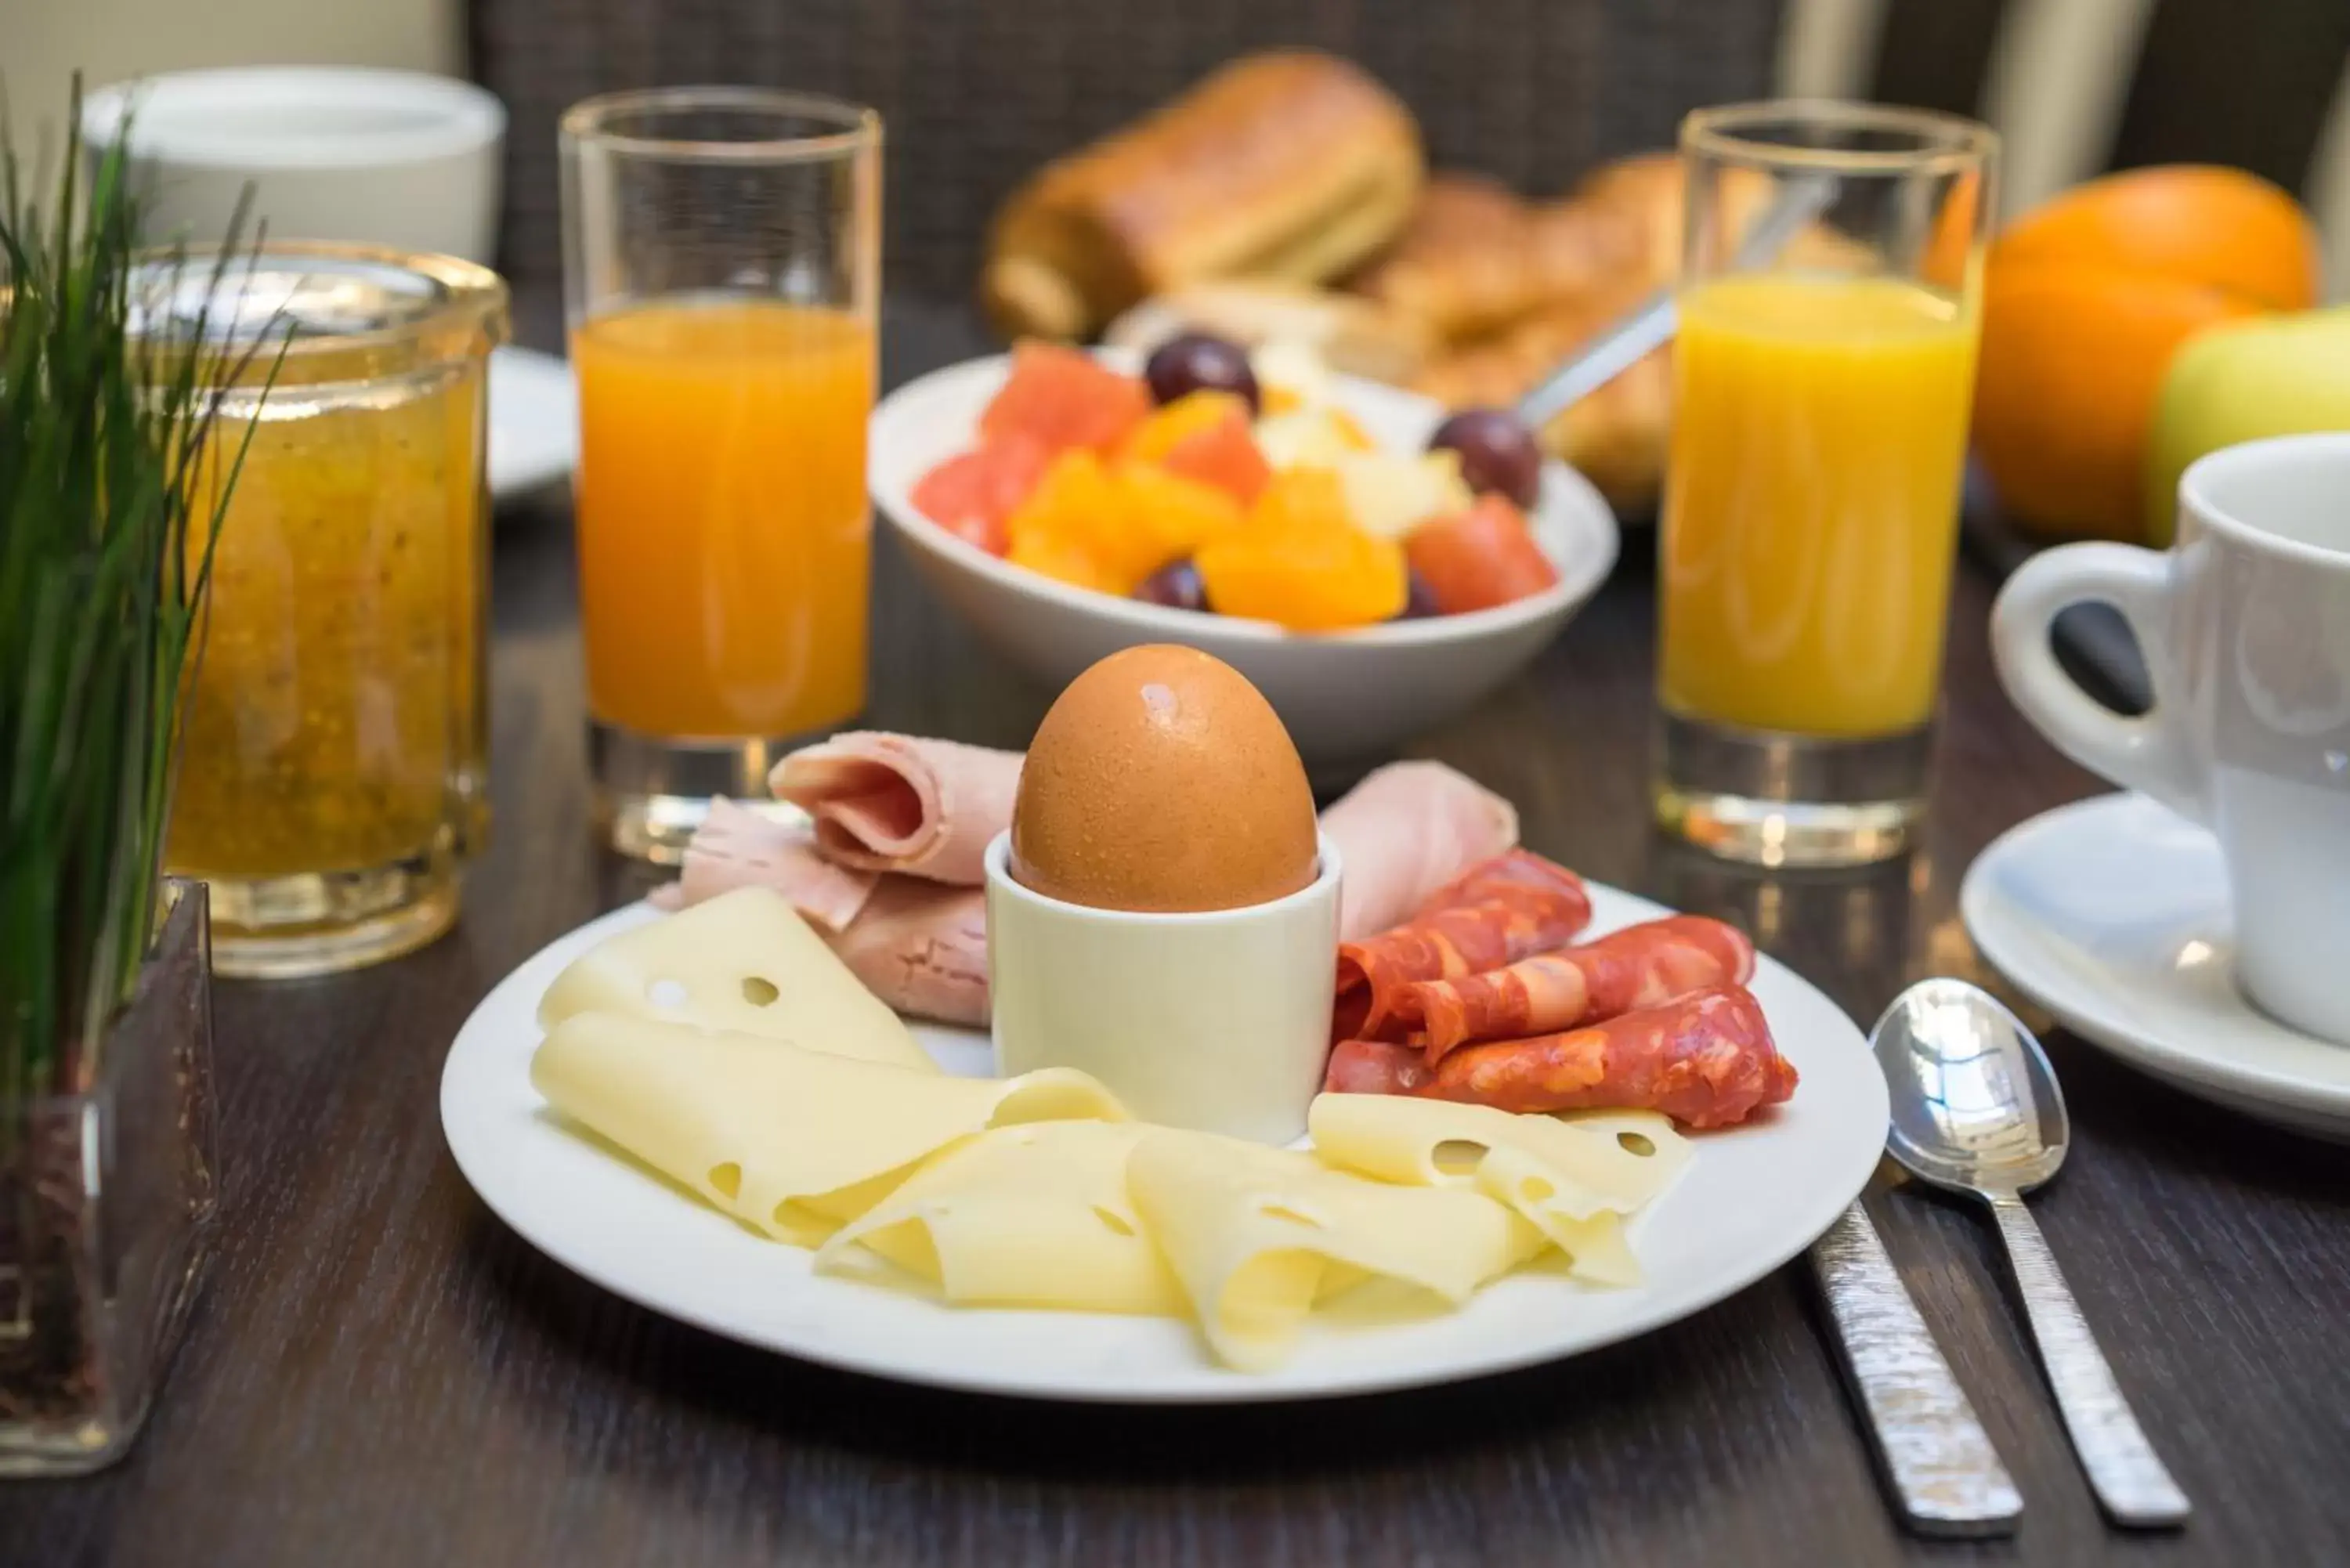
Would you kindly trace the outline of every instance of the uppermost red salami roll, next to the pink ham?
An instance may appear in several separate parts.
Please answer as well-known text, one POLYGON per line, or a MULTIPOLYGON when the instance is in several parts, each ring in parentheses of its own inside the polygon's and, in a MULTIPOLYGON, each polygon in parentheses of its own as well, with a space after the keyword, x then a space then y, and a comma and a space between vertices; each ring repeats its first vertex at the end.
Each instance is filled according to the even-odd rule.
POLYGON ((1565 947, 1591 924, 1584 879, 1511 849, 1441 886, 1422 910, 1337 947, 1337 1039, 1377 1039, 1412 980, 1473 976, 1565 947))

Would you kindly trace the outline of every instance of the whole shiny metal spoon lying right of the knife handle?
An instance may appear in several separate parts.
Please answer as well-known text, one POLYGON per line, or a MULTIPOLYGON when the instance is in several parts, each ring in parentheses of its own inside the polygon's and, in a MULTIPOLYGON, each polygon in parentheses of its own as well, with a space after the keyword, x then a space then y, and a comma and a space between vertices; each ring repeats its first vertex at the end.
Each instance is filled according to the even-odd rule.
POLYGON ((1988 992, 1920 980, 1868 1034, 1892 1091, 1887 1152, 1911 1175, 1990 1206, 2089 1488, 2120 1526, 2176 1526, 2188 1497, 2129 1413, 2023 1194, 2063 1164, 2070 1126, 2040 1041, 1988 992))

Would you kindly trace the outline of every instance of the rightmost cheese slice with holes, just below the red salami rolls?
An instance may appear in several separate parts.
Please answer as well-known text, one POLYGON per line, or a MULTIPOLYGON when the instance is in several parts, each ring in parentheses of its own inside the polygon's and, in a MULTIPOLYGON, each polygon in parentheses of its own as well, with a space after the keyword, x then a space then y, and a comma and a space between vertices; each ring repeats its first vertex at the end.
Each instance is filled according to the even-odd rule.
POLYGON ((1422 1187, 1476 1187, 1542 1227, 1577 1279, 1640 1284, 1624 1215, 1690 1164, 1690 1140, 1647 1110, 1520 1117, 1408 1095, 1316 1095, 1314 1152, 1344 1171, 1422 1187))

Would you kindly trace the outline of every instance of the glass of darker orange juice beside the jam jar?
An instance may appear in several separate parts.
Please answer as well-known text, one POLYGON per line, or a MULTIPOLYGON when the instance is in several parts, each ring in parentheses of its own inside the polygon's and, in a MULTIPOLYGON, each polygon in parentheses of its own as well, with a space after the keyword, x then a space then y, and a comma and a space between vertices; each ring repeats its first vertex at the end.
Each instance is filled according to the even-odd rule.
POLYGON ((865 705, 881 118, 667 87, 562 118, 588 750, 611 846, 865 705))

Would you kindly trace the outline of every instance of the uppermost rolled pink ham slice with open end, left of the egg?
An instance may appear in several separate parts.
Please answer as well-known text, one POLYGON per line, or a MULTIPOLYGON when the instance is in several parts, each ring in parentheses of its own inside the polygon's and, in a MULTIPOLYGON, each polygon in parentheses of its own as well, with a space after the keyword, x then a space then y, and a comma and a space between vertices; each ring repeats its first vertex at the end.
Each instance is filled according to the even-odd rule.
POLYGON ((827 860, 978 886, 1013 823, 1020 752, 862 729, 792 752, 766 785, 815 818, 827 860))

